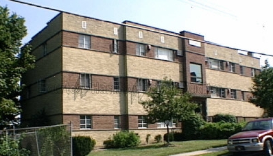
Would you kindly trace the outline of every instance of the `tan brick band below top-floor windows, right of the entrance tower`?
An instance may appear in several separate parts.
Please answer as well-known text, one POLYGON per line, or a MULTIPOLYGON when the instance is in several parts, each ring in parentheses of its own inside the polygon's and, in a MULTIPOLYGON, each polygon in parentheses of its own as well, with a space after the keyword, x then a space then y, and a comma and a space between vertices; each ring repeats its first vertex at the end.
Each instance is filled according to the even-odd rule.
POLYGON ((248 91, 251 88, 252 80, 251 77, 206 69, 206 83, 210 86, 248 91))

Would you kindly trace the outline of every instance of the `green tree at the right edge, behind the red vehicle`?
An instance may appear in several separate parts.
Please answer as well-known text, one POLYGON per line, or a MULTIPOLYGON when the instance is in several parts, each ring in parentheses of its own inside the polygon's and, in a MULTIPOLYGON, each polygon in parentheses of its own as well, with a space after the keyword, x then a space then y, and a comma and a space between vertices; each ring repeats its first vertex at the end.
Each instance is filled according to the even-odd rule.
POLYGON ((252 81, 253 98, 250 99, 250 103, 265 109, 268 116, 273 116, 273 68, 267 61, 261 69, 261 73, 255 75, 252 81))

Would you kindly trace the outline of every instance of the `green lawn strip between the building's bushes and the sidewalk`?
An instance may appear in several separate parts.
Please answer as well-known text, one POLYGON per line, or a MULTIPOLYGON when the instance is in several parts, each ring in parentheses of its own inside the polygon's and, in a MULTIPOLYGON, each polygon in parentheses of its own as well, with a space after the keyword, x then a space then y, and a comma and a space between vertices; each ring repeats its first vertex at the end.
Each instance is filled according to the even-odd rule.
POLYGON ((191 151, 199 151, 212 147, 226 146, 226 140, 193 140, 185 142, 171 142, 171 146, 165 147, 163 143, 147 144, 134 148, 117 148, 107 149, 103 151, 91 151, 88 156, 165 156, 175 155, 178 153, 187 153, 191 151))

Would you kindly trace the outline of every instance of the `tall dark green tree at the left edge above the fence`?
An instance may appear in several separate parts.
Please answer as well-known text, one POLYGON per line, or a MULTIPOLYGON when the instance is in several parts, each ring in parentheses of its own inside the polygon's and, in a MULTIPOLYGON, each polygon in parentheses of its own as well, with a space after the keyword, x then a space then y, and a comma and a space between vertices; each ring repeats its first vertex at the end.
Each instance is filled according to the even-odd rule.
POLYGON ((21 49, 21 40, 27 35, 24 22, 0 6, 0 125, 14 121, 21 112, 18 96, 23 86, 19 82, 27 69, 34 68, 31 47, 21 49))

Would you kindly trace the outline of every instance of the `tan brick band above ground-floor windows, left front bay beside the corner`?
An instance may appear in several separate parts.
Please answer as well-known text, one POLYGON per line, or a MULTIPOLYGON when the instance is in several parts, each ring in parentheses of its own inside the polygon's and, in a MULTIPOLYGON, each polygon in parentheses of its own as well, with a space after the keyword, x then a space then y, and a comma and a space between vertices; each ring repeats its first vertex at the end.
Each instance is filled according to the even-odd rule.
POLYGON ((106 115, 124 111, 124 96, 119 92, 65 89, 62 97, 64 114, 106 115))

